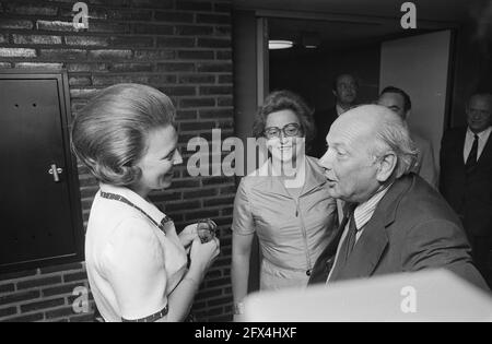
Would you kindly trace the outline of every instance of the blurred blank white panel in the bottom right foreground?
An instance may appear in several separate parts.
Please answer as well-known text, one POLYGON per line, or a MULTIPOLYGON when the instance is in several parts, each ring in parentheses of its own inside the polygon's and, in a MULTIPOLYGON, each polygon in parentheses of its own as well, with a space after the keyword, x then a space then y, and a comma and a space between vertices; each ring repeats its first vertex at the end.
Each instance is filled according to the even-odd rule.
POLYGON ((447 270, 250 294, 247 322, 491 322, 490 295, 447 270))

